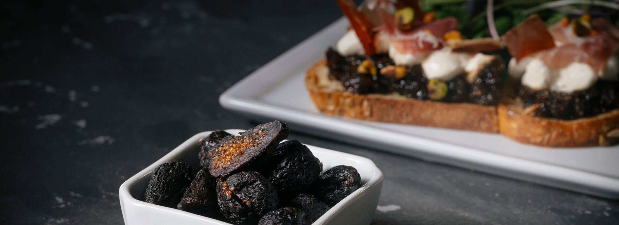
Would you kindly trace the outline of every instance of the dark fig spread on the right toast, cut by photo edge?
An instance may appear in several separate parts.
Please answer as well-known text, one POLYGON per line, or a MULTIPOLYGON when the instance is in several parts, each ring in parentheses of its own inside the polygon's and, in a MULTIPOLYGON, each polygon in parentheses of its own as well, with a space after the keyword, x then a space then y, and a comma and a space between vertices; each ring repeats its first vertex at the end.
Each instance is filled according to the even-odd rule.
POLYGON ((598 80, 583 91, 563 93, 548 90, 532 90, 521 85, 518 95, 522 107, 539 104, 535 116, 556 119, 578 119, 591 117, 619 108, 619 82, 598 80))

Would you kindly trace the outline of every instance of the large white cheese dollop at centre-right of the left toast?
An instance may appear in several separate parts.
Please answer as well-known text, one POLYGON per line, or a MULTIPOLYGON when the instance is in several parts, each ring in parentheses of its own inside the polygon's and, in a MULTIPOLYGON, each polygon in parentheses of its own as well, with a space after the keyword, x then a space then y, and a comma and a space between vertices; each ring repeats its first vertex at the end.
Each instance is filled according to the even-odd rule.
POLYGON ((449 48, 433 51, 422 62, 423 73, 427 79, 451 80, 464 73, 464 67, 471 57, 471 54, 452 53, 449 48))

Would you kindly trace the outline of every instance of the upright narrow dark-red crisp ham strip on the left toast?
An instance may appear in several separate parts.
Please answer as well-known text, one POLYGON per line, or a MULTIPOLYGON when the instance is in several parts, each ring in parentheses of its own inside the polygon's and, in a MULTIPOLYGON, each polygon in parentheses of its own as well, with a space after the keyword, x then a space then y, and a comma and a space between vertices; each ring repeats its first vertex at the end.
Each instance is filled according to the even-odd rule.
POLYGON ((352 0, 337 0, 337 4, 344 12, 344 15, 350 20, 350 25, 355 29, 355 33, 367 56, 371 56, 376 53, 374 49, 374 25, 368 20, 363 13, 357 11, 357 6, 352 0))

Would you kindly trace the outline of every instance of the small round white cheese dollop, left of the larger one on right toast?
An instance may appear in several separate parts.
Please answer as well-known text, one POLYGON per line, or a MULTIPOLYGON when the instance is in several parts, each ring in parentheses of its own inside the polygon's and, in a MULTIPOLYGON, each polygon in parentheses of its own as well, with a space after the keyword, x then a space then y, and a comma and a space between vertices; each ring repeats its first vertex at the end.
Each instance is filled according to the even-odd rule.
POLYGON ((527 64, 521 83, 533 90, 547 89, 552 79, 553 72, 539 59, 534 59, 527 64))

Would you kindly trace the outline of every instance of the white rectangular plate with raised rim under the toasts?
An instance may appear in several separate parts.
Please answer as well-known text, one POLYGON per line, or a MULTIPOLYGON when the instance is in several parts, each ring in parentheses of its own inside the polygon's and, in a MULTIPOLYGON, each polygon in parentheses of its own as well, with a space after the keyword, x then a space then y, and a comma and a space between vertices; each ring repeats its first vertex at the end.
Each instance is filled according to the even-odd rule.
MULTIPOLYGON (((258 119, 304 125, 306 132, 429 161, 561 189, 619 198, 619 146, 543 148, 498 134, 360 121, 320 113, 305 89, 305 70, 344 35, 339 19, 233 85, 224 108, 258 119)), ((465 112, 462 112, 465 113, 465 112)))

